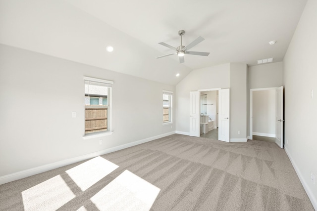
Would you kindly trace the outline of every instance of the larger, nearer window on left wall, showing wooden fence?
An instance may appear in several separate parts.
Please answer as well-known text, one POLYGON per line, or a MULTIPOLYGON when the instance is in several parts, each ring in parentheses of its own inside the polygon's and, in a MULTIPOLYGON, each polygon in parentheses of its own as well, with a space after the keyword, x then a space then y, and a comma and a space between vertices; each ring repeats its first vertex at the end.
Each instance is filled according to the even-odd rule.
POLYGON ((85 134, 110 130, 111 85, 113 82, 84 77, 85 134))

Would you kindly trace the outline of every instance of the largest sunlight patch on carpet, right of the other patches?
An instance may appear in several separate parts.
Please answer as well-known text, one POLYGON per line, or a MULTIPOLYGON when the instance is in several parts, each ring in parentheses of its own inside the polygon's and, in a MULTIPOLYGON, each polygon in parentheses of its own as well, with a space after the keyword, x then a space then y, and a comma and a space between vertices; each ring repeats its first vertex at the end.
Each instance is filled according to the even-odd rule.
POLYGON ((128 170, 123 171, 91 201, 100 211, 149 211, 160 189, 128 170))

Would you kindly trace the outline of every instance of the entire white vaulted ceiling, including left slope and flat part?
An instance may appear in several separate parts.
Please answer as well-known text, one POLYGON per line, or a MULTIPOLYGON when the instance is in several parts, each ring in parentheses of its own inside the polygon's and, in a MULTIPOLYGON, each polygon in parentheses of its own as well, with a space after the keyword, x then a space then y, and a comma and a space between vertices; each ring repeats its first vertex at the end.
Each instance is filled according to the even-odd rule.
POLYGON ((228 62, 282 61, 307 0, 1 0, 0 43, 166 84, 228 62), (155 57, 197 37, 185 55, 155 57), (275 45, 268 42, 276 40, 275 45), (105 52, 106 45, 114 51, 105 52), (176 78, 176 73, 181 76, 176 78))

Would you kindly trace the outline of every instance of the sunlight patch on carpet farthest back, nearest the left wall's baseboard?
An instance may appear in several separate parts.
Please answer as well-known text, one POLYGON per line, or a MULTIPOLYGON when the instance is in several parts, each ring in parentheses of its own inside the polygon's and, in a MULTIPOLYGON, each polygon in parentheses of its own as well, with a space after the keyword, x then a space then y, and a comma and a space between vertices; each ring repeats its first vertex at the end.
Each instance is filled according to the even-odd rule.
POLYGON ((102 157, 96 157, 66 170, 66 173, 82 191, 85 191, 118 167, 102 157))

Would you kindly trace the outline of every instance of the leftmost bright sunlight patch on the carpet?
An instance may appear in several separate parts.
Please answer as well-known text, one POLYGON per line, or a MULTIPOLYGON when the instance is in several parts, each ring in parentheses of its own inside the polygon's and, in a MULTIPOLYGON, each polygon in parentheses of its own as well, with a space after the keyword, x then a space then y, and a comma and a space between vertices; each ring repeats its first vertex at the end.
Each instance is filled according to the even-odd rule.
POLYGON ((22 192, 25 211, 55 211, 75 195, 60 175, 22 192))

